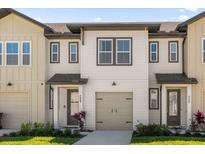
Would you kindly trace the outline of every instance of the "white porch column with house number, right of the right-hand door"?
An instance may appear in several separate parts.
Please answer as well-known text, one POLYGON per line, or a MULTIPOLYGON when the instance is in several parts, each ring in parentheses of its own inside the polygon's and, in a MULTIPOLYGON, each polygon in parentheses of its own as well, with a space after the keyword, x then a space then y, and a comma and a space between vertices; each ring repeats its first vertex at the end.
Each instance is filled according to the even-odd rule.
POLYGON ((186 127, 188 128, 191 124, 191 116, 192 116, 192 111, 191 111, 191 106, 192 106, 192 85, 187 86, 187 125, 186 127))

